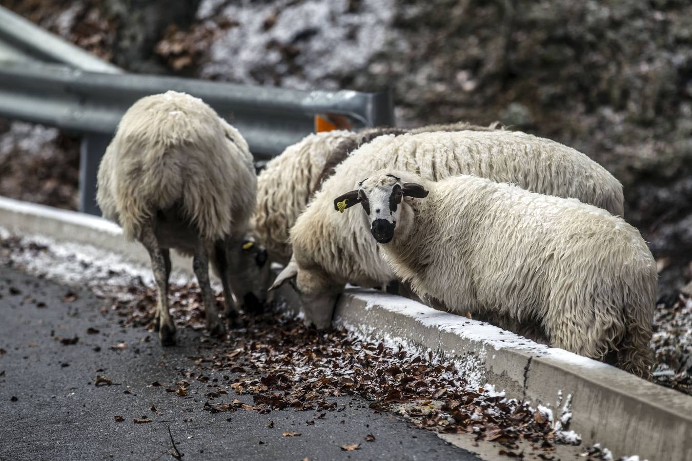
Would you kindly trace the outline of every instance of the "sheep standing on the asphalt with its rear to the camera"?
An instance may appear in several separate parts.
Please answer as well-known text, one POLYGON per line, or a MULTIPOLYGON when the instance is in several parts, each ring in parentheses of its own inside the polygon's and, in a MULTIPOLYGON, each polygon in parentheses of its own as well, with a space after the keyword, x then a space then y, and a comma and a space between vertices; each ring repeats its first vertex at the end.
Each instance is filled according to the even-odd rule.
POLYGON ((164 346, 175 344, 167 301, 171 248, 193 256, 212 335, 225 328, 210 286, 210 257, 231 323, 241 323, 238 303, 254 308, 266 300, 266 251, 246 238, 256 189, 247 142, 202 100, 167 91, 143 97, 122 116, 99 165, 96 200, 105 218, 149 252, 164 346))

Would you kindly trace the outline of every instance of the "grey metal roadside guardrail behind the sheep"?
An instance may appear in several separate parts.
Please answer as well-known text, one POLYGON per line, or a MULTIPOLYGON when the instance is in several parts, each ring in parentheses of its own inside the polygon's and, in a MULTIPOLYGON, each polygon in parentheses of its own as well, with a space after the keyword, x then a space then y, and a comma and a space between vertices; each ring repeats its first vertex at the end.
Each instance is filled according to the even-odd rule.
POLYGON ((394 124, 388 92, 298 91, 120 73, 0 8, 0 115, 82 135, 80 211, 100 214, 96 172, 122 114, 140 97, 167 90, 207 102, 242 133, 259 160, 313 132, 316 115, 343 115, 356 129, 394 124))

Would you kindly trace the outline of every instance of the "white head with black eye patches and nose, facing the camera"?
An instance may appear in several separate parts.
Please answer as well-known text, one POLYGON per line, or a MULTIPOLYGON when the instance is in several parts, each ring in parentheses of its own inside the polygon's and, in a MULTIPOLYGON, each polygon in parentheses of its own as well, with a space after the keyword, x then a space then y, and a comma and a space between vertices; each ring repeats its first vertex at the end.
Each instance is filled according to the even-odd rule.
POLYGON ((334 199, 334 209, 343 213, 358 203, 363 205, 370 222, 370 232, 379 243, 389 243, 401 215, 404 197, 424 198, 428 191, 416 182, 402 182, 392 173, 365 178, 352 190, 334 199))

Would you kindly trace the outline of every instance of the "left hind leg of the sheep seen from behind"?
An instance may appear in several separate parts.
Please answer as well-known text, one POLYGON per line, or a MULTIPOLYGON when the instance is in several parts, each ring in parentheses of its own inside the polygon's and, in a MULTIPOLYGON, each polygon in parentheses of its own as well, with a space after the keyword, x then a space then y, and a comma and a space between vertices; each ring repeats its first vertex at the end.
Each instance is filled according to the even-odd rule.
POLYGON ((175 324, 170 317, 170 312, 168 312, 168 275, 170 273, 170 269, 167 269, 167 266, 170 266, 170 261, 166 262, 170 260, 167 257, 169 256, 168 250, 161 248, 158 244, 153 225, 145 226, 142 229, 141 241, 149 252, 149 258, 152 259, 152 270, 156 280, 158 339, 162 346, 173 346, 175 344, 175 324))

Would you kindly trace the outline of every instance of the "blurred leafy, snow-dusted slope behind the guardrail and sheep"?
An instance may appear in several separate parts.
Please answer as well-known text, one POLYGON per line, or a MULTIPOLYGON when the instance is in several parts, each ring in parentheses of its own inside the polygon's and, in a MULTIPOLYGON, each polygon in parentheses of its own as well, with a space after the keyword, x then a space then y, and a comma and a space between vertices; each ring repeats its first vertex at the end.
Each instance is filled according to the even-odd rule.
POLYGON ((3 2, 132 70, 389 86, 399 124, 501 120, 568 144, 623 182, 627 220, 667 267, 664 291, 690 278, 691 3, 202 0, 176 2, 143 35, 122 26, 166 3, 3 2))

